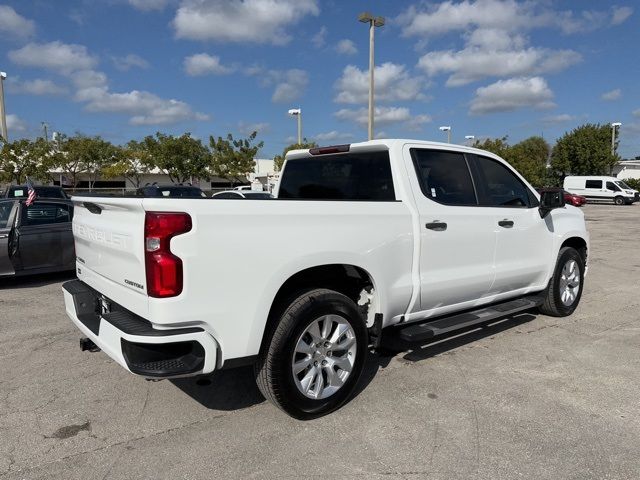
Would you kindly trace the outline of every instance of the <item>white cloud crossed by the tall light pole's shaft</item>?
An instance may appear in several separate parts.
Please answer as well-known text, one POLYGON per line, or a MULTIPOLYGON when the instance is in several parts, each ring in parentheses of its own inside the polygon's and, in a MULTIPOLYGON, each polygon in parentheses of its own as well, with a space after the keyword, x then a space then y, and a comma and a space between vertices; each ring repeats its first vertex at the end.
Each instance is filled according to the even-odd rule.
MULTIPOLYGON (((376 101, 411 101, 425 99, 422 88, 425 82, 420 77, 412 77, 404 65, 391 62, 375 68, 376 101)), ((369 71, 347 65, 335 84, 337 103, 365 103, 369 95, 369 71)))

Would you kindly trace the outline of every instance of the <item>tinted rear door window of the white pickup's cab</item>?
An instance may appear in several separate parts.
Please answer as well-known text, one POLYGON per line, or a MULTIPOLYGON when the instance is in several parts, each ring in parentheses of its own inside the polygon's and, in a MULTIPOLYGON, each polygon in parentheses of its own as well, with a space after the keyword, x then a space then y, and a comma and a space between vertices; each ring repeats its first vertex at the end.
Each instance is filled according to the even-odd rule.
POLYGON ((411 158, 428 198, 445 205, 478 204, 464 154, 412 148, 411 158))

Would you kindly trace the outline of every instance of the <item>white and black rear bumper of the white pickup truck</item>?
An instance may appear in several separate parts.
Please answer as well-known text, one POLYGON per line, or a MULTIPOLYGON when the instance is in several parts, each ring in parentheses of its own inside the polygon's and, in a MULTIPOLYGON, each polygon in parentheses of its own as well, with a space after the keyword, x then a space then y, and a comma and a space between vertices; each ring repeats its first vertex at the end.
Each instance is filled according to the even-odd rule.
POLYGON ((101 295, 80 280, 62 285, 67 315, 102 351, 131 373, 175 378, 210 373, 218 344, 200 327, 157 329, 116 304, 101 311, 101 295))

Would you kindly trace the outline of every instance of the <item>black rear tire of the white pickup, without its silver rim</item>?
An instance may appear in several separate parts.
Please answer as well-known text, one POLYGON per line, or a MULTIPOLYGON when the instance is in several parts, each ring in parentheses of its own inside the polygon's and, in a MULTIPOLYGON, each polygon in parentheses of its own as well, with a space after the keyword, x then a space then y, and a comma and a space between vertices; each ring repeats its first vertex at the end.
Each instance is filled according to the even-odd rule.
POLYGON ((367 358, 368 334, 365 321, 351 299, 333 290, 306 291, 285 308, 266 335, 254 371, 258 388, 278 408, 299 420, 310 420, 331 413, 352 398, 367 358), (356 352, 344 384, 327 398, 316 400, 303 395, 296 386, 292 359, 298 339, 323 315, 339 315, 349 323, 355 335, 356 352))

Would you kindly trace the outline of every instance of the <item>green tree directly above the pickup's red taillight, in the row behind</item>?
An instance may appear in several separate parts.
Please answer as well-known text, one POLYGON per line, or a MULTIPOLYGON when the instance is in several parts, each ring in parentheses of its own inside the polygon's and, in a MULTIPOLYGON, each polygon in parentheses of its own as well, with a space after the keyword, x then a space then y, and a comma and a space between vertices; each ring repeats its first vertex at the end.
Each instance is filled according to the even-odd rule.
POLYGON ((190 133, 179 137, 157 132, 142 141, 142 148, 153 159, 153 165, 174 183, 186 183, 207 174, 210 154, 199 139, 190 133))

